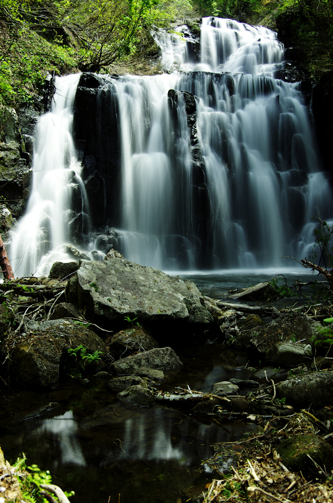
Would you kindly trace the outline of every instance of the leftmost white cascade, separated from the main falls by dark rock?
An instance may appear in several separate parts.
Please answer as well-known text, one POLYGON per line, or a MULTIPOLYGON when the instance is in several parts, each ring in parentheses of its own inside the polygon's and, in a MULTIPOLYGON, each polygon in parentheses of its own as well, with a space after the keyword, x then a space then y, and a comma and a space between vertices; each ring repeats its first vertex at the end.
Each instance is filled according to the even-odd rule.
POLYGON ((31 196, 10 246, 16 276, 48 273, 53 262, 68 261, 62 245, 73 238, 77 219, 88 231, 88 201, 72 139, 78 80, 79 74, 55 78, 51 112, 37 125, 31 196))

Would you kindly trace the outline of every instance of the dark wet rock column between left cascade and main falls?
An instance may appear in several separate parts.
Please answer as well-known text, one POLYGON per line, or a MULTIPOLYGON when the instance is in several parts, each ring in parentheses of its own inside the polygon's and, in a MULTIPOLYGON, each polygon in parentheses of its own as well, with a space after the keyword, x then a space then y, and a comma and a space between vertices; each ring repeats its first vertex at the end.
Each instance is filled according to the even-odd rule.
POLYGON ((81 75, 73 129, 92 226, 102 230, 117 221, 121 164, 117 97, 108 80, 91 73, 81 75))

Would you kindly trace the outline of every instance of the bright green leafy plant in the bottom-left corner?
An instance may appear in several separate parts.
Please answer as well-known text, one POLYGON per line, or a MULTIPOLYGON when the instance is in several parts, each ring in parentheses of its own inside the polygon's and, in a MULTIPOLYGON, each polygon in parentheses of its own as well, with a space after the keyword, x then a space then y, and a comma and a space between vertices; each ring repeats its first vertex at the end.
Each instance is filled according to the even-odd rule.
MULTIPOLYGON (((41 495, 41 484, 51 484, 52 476, 49 470, 43 471, 36 464, 26 466, 26 456, 23 454, 22 458, 18 458, 14 463, 14 467, 20 471, 24 476, 18 476, 21 491, 24 501, 30 503, 47 503, 48 499, 41 495)), ((65 492, 67 497, 74 494, 74 491, 65 492)), ((56 496, 52 496, 56 501, 56 496)))

